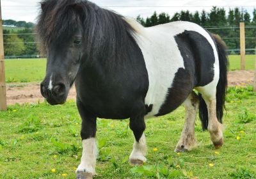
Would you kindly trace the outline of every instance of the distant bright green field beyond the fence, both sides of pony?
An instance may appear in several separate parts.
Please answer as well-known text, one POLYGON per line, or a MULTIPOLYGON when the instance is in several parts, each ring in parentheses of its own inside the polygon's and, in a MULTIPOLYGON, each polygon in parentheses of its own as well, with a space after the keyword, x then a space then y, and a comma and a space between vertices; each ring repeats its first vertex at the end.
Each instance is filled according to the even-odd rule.
MULTIPOLYGON (((254 70, 255 55, 246 56, 246 70, 254 70)), ((230 70, 239 70, 240 56, 229 56, 230 70)), ((45 75, 45 59, 6 60, 6 82, 42 81, 45 75)))

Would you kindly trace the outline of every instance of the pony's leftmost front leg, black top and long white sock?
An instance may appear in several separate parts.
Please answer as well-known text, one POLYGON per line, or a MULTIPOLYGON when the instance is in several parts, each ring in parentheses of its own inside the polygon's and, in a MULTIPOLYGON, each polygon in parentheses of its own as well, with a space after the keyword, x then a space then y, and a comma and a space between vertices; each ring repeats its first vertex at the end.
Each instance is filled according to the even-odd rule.
POLYGON ((97 159, 96 135, 96 117, 87 113, 82 102, 77 100, 77 109, 82 118, 81 137, 83 140, 83 155, 81 163, 76 170, 77 179, 89 179, 95 175, 95 166, 97 159))

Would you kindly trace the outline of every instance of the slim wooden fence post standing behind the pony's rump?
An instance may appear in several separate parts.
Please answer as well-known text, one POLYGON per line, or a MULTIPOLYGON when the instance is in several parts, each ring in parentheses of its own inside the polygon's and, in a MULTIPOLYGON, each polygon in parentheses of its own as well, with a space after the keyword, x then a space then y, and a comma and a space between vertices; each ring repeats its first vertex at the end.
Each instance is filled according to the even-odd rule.
POLYGON ((244 22, 240 22, 240 55, 241 55, 241 70, 245 70, 245 31, 244 31, 244 22))

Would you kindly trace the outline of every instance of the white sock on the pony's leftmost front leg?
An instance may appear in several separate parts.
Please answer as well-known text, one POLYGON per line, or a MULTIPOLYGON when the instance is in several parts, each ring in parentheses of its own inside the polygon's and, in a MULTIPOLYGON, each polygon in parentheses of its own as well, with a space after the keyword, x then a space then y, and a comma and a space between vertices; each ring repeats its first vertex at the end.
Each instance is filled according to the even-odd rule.
POLYGON ((83 140, 83 155, 76 173, 92 173, 92 175, 95 175, 97 154, 98 150, 95 138, 83 140))

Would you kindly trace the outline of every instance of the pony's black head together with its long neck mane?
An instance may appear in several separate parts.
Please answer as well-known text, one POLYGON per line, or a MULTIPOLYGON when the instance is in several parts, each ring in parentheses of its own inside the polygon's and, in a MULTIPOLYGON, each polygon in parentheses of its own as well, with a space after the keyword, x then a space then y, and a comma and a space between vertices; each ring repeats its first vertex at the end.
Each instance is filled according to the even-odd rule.
POLYGON ((77 73, 88 63, 97 59, 104 65, 122 64, 135 31, 121 15, 90 1, 44 0, 41 4, 36 29, 47 54, 41 93, 50 104, 63 104, 77 73))

